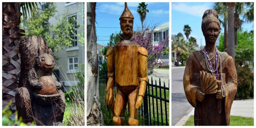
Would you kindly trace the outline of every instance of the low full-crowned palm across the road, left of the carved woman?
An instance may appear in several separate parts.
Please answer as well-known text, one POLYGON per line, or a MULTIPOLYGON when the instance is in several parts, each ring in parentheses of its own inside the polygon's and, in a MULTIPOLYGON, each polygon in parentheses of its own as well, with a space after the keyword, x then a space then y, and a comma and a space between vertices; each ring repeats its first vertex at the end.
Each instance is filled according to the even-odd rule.
POLYGON ((176 51, 177 55, 177 63, 176 66, 179 66, 180 63, 180 53, 186 53, 188 52, 186 42, 184 41, 184 38, 177 37, 176 40, 172 41, 172 50, 176 51))

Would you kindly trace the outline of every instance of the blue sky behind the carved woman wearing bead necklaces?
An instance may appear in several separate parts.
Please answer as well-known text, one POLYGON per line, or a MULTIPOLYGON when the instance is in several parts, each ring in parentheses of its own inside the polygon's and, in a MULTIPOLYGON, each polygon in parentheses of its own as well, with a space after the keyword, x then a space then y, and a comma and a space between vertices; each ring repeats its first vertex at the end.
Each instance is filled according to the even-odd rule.
MULTIPOLYGON (((213 3, 175 3, 172 2, 171 10, 171 34, 177 35, 179 32, 183 34, 186 38, 186 35, 183 32, 184 25, 188 24, 192 32, 189 37, 195 37, 197 39, 197 44, 205 46, 204 36, 201 30, 202 16, 206 9, 211 9, 213 3)), ((220 17, 219 17, 220 18, 220 17)), ((221 24, 222 27, 222 24, 221 24)), ((253 23, 243 23, 243 30, 253 30, 253 23)), ((224 28, 221 28, 221 32, 224 32, 224 28)))

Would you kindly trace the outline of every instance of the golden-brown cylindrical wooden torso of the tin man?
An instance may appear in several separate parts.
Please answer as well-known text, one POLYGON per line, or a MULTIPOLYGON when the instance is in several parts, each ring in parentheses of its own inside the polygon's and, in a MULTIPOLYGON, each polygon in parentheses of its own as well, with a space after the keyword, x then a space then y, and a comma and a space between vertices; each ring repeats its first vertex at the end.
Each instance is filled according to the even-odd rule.
POLYGON ((120 86, 138 86, 138 49, 130 40, 120 40, 114 46, 115 82, 120 86))

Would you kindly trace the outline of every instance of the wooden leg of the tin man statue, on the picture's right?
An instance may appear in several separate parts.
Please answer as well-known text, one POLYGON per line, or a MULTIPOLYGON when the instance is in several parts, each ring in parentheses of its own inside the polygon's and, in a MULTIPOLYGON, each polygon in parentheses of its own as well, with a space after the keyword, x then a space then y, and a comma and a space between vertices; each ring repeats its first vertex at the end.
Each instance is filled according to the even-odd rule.
POLYGON ((130 126, 139 125, 139 120, 137 120, 138 114, 137 114, 137 110, 135 109, 135 103, 137 101, 137 93, 138 93, 138 87, 128 95, 128 108, 130 113, 128 125, 130 126))

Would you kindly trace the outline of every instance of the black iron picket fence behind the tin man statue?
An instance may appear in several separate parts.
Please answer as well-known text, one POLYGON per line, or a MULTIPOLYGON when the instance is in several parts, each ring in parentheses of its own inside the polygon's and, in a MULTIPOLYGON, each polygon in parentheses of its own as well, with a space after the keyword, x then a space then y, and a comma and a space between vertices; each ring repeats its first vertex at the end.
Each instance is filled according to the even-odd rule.
MULTIPOLYGON (((107 72, 99 73, 99 90, 101 106, 108 108, 105 102, 106 85, 108 82, 107 72)), ((169 81, 168 81, 169 82, 169 81)), ((114 86, 114 97, 116 97, 116 85, 114 86)), ((144 117, 145 125, 169 125, 169 83, 166 87, 165 82, 161 85, 159 78, 159 85, 153 79, 148 81, 146 92, 143 99, 143 104, 138 111, 139 116, 144 117), (151 83, 151 84, 150 84, 151 83)))

